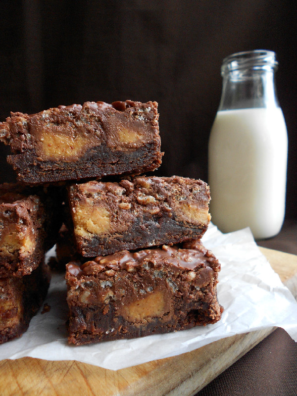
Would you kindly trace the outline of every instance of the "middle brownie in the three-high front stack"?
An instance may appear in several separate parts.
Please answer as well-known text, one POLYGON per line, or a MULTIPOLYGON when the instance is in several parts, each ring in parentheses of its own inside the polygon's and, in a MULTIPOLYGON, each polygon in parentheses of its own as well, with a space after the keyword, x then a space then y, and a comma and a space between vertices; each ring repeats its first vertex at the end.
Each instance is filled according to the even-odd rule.
POLYGON ((92 181, 69 187, 77 250, 85 257, 200 238, 209 187, 178 176, 92 181))

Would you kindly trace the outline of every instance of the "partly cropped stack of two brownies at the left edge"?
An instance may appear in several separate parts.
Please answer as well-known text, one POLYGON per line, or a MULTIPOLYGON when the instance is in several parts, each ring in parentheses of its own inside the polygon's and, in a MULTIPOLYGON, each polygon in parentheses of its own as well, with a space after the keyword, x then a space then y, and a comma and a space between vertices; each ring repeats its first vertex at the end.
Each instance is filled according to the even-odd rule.
POLYGON ((0 344, 21 336, 47 295, 45 252, 58 233, 56 199, 44 189, 0 185, 0 344))

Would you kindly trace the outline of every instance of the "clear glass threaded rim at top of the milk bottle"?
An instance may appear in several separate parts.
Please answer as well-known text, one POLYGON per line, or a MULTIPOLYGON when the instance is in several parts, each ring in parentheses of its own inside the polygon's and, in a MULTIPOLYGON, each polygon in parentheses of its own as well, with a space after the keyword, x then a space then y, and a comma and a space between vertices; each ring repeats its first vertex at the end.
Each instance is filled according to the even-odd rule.
POLYGON ((254 49, 251 51, 235 52, 223 59, 221 74, 240 69, 277 69, 278 61, 274 51, 254 49))

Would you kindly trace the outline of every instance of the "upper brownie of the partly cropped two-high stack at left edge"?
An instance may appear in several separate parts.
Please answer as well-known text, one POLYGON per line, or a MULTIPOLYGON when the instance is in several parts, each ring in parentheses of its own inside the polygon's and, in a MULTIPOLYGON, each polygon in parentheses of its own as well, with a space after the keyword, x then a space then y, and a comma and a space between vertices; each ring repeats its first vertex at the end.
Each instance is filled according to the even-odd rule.
POLYGON ((55 244, 61 224, 59 194, 46 190, 0 185, 0 278, 30 274, 55 244))

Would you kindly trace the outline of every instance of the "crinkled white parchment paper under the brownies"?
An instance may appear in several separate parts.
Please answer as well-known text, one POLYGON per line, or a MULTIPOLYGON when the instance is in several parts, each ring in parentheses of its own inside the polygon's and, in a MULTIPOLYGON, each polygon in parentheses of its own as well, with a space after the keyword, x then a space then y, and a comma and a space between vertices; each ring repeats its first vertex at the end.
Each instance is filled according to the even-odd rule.
POLYGON ((222 265, 218 299, 225 311, 216 324, 134 340, 69 346, 65 280, 62 274, 54 274, 45 300, 49 312, 42 314, 41 309, 21 338, 0 345, 0 359, 31 356, 77 360, 118 370, 272 326, 282 327, 297 341, 297 302, 258 249, 249 229, 222 234, 211 224, 202 241, 222 265))

